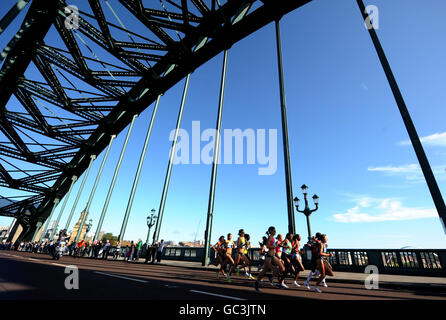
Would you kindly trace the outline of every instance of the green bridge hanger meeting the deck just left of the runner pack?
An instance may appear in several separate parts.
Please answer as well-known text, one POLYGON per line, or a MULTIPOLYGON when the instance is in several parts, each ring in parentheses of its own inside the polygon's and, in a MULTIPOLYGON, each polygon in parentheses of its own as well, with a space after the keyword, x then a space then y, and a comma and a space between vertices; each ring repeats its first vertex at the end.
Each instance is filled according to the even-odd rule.
POLYGON ((212 174, 211 174, 211 186, 209 190, 209 203, 208 203, 208 215, 206 221, 206 231, 205 231, 205 241, 204 241, 204 259, 202 262, 203 266, 209 264, 209 249, 212 236, 212 219, 214 215, 214 199, 215 199, 215 183, 217 180, 217 167, 218 167, 218 156, 220 153, 220 133, 221 133, 221 121, 223 114, 223 100, 225 95, 225 85, 226 85, 226 68, 228 65, 228 50, 225 50, 223 55, 223 68, 221 72, 221 84, 220 84, 220 99, 218 102, 218 115, 217 115, 217 125, 215 129, 215 141, 214 141, 214 160, 212 163, 212 174))

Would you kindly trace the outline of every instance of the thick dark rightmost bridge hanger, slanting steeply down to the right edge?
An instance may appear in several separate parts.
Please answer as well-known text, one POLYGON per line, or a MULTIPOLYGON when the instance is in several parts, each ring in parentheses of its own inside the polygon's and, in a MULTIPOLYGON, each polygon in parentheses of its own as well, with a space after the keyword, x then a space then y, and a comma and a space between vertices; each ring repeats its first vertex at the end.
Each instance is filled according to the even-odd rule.
MULTIPOLYGON (((366 11, 364 2, 362 0, 356 0, 356 1, 358 3, 359 10, 361 11, 361 14, 364 18, 364 21, 366 22, 370 21, 370 17, 366 11)), ((390 68, 389 61, 387 60, 387 57, 381 46, 375 28, 373 26, 371 27, 369 26, 368 30, 370 33, 370 37, 372 38, 373 45, 375 46, 376 53, 378 54, 379 60, 386 74, 387 80, 389 81, 390 88, 392 89, 393 96, 398 105, 398 109, 401 113, 401 117, 403 118, 404 125, 406 126, 407 133, 409 134, 410 141, 412 142, 412 146, 417 155, 418 162, 420 163, 420 167, 421 170, 423 171, 424 178, 426 179, 427 186, 431 193, 432 199, 434 200, 434 204, 437 209, 438 215, 440 216, 440 221, 442 222, 444 231, 446 233, 446 205, 444 203, 443 196, 441 195, 440 189, 438 188, 438 184, 437 181, 435 180, 435 176, 432 172, 429 160, 426 157, 423 145, 420 142, 417 130, 415 129, 415 125, 412 122, 410 113, 407 110, 403 95, 401 94, 401 91, 395 80, 392 69, 390 68)))

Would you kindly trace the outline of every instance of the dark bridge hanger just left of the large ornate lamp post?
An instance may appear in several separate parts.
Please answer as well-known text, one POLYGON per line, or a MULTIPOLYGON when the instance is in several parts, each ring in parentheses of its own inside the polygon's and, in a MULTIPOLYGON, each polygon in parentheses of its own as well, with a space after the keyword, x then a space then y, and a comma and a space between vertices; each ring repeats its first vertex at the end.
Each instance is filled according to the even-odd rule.
POLYGON ((280 107, 282 118, 283 159, 285 161, 285 182, 288 210, 288 232, 296 234, 293 206, 293 182, 291 180, 290 146, 288 142, 288 120, 286 115, 285 80, 283 76, 282 41, 280 38, 280 22, 276 20, 277 60, 279 67, 280 107))

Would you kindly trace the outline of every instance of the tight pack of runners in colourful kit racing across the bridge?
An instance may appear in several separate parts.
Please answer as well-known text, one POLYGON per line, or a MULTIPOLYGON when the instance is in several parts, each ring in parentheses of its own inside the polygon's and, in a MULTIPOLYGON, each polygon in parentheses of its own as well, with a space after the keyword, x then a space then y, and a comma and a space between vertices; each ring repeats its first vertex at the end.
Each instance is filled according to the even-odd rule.
POLYGON ((300 287, 298 278, 300 272, 305 268, 302 263, 302 255, 307 253, 307 258, 310 261, 310 272, 304 286, 311 290, 310 281, 313 275, 319 276, 313 288, 315 292, 322 292, 319 286, 328 287, 326 283, 327 276, 333 276, 333 271, 327 258, 333 256, 332 253, 327 253, 327 235, 316 233, 308 243, 305 249, 300 245, 301 236, 299 234, 293 235, 287 233, 285 237, 281 234, 276 236, 276 228, 269 227, 266 232, 261 245, 261 258, 263 264, 259 267, 259 275, 254 277, 251 274, 251 261, 248 256, 248 249, 251 247, 249 234, 245 234, 243 229, 238 232, 238 239, 236 242, 232 240, 232 234, 228 234, 227 239, 221 236, 218 242, 213 246, 216 251, 215 266, 220 265, 217 271, 217 278, 220 275, 226 277, 226 280, 232 282, 231 275, 235 272, 240 274, 243 269, 245 276, 249 279, 255 280, 255 289, 259 291, 262 286, 262 278, 267 275, 271 286, 274 286, 274 278, 277 278, 277 286, 280 288, 288 288, 286 278, 294 276, 293 287, 300 287), (233 251, 235 251, 235 259, 233 258, 233 251))

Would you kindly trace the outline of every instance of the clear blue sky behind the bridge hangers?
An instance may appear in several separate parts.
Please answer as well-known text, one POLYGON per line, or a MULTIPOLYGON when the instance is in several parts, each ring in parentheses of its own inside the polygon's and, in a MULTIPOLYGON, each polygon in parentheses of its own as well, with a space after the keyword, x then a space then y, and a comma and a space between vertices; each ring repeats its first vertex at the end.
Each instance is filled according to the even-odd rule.
MULTIPOLYGON (((441 0, 404 4, 373 0, 366 4, 379 8, 378 36, 446 196, 446 43, 442 41, 446 4, 441 0)), ((9 4, 2 2, 0 7, 3 13, 9 4)), ((317 193, 320 197, 320 209, 311 216, 313 232, 327 233, 333 248, 444 248, 445 233, 415 153, 406 143, 407 132, 356 1, 315 0, 285 16, 281 30, 293 191, 302 199, 299 187, 305 183, 310 196, 317 193)), ((4 38, 2 35, 2 47, 4 38)), ((219 55, 192 74, 182 124, 189 132, 192 121, 200 121, 202 129, 215 127, 221 64, 219 55)), ((126 239, 145 239, 145 217, 150 209, 158 210, 171 146, 169 133, 176 124, 183 86, 184 81, 161 100, 126 239)), ((106 232, 119 233, 151 112, 152 107, 136 120, 103 225, 106 232)), ((219 166, 213 241, 228 232, 235 235, 240 228, 251 234, 253 243, 270 225, 286 233, 273 24, 229 52, 223 128, 277 129, 278 168, 274 175, 259 176, 257 165, 219 166)), ((114 142, 91 206, 93 230, 126 132, 114 142)), ((102 157, 94 162, 76 220, 102 157)), ((174 166, 161 238, 203 238, 210 175, 209 165, 174 166)), ((73 189, 62 225, 79 186, 73 189)), ((5 189, 0 192, 9 194, 5 189)), ((10 222, 0 217, 0 225, 10 222)), ((302 214, 296 213, 296 229, 303 238, 307 236, 302 214)))

